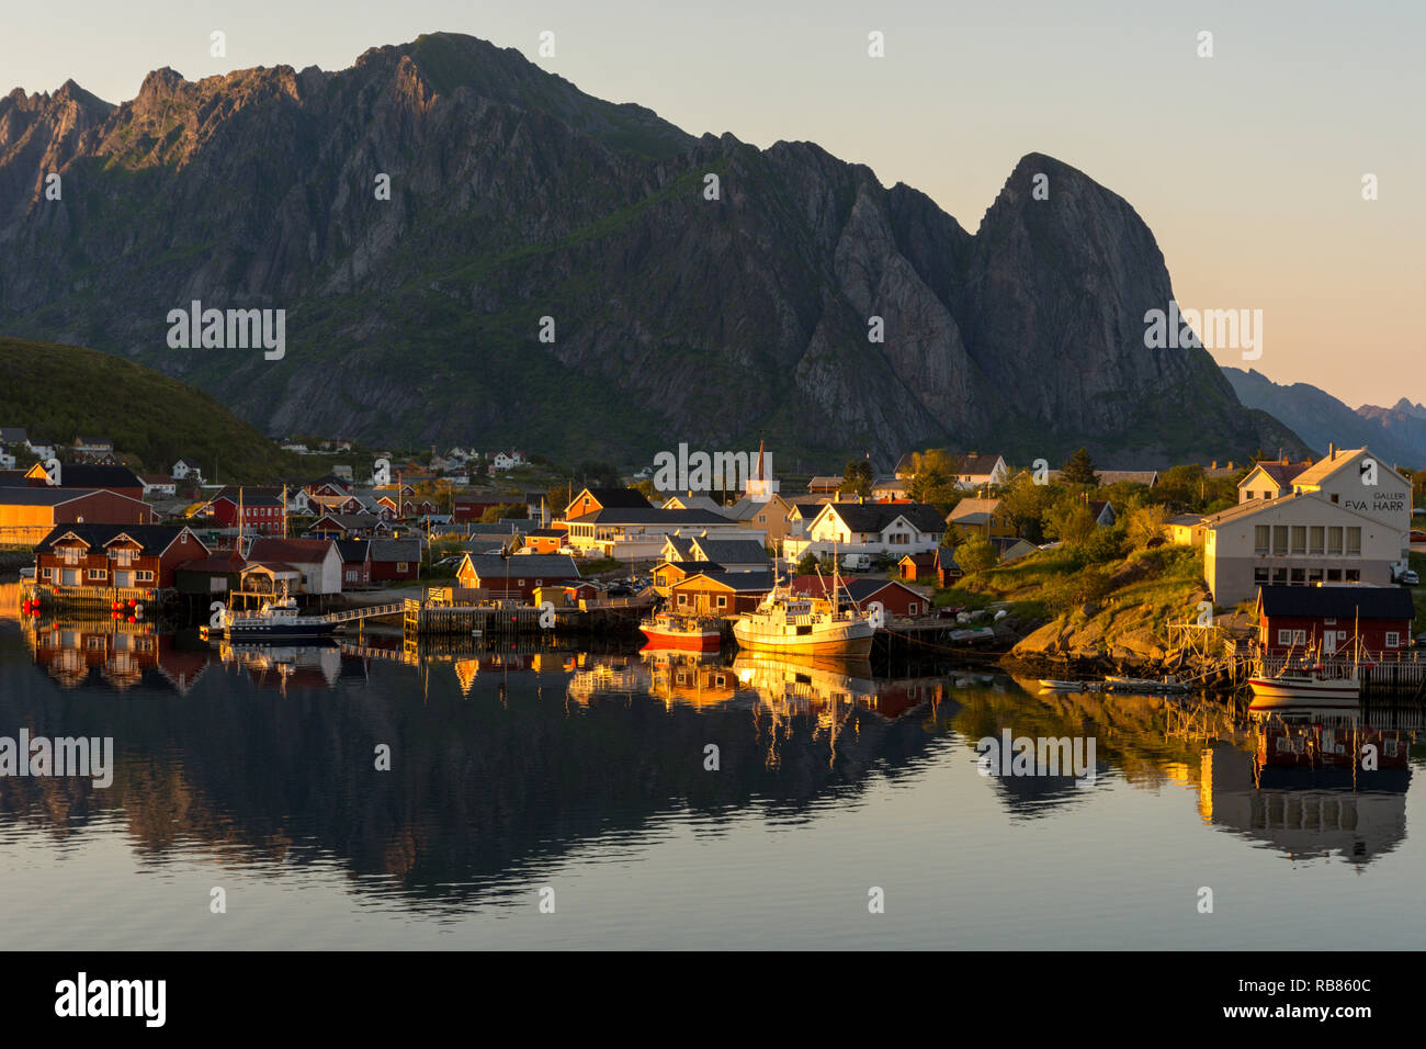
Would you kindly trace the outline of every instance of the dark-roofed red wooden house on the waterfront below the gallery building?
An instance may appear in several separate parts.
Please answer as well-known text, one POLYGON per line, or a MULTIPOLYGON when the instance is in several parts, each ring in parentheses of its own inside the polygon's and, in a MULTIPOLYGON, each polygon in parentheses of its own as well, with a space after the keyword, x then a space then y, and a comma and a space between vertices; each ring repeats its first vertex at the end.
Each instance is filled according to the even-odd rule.
POLYGON ((1390 659, 1410 645, 1413 614, 1403 587, 1261 587, 1258 644, 1269 657, 1310 649, 1390 659))

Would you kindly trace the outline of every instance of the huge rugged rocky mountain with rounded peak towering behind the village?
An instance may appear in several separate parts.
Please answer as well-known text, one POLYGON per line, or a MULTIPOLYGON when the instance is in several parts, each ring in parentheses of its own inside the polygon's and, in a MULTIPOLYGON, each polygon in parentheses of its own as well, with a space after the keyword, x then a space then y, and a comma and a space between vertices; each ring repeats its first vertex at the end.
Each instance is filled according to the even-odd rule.
POLYGON ((1144 345, 1164 257, 1067 164, 1024 157, 971 234, 811 143, 696 138, 465 36, 338 73, 163 69, 121 106, 16 90, 0 201, 3 330, 140 360, 270 434, 626 462, 759 437, 784 464, 1299 445, 1205 351, 1144 345), (285 354, 170 348, 194 300, 284 310, 285 354))

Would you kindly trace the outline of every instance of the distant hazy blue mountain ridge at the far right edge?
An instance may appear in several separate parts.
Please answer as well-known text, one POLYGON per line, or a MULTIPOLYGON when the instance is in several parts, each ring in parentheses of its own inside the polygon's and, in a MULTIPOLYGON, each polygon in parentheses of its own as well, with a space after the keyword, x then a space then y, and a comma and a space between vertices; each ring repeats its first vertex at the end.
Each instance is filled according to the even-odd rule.
MULTIPOLYGON (((1308 382, 1282 385, 1261 371, 1224 368, 1243 404, 1282 420, 1318 452, 1368 445, 1385 460, 1406 467, 1426 465, 1426 407, 1402 398, 1390 408, 1346 404, 1308 382)), ((1276 448, 1265 445, 1272 455, 1276 448)))

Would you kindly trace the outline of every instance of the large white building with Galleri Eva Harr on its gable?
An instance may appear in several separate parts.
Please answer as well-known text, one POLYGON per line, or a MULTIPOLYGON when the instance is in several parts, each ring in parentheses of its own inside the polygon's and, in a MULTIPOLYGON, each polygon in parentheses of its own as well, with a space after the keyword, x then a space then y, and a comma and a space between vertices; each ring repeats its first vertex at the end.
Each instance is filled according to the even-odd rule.
POLYGON ((1330 448, 1296 471, 1259 467, 1236 507, 1199 524, 1204 575, 1219 605, 1263 585, 1390 585, 1407 562, 1410 517, 1410 484, 1368 448, 1330 448))

